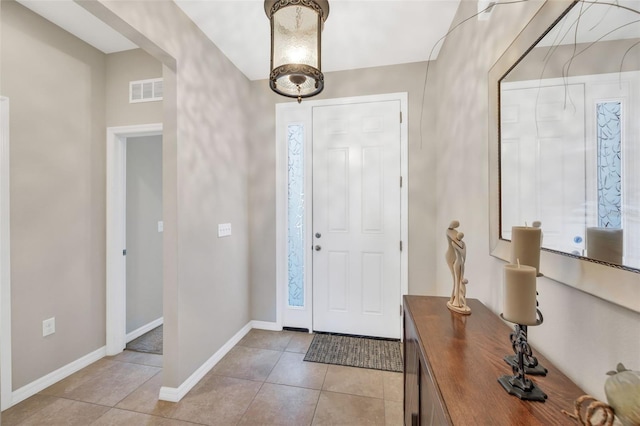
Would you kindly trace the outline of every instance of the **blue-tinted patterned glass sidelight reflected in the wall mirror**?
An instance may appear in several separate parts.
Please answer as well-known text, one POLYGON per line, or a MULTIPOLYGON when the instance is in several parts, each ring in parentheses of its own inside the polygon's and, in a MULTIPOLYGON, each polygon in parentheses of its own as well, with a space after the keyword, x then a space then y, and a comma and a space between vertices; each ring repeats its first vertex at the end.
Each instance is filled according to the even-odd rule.
POLYGON ((620 102, 596 105, 598 115, 598 226, 622 228, 620 102))

